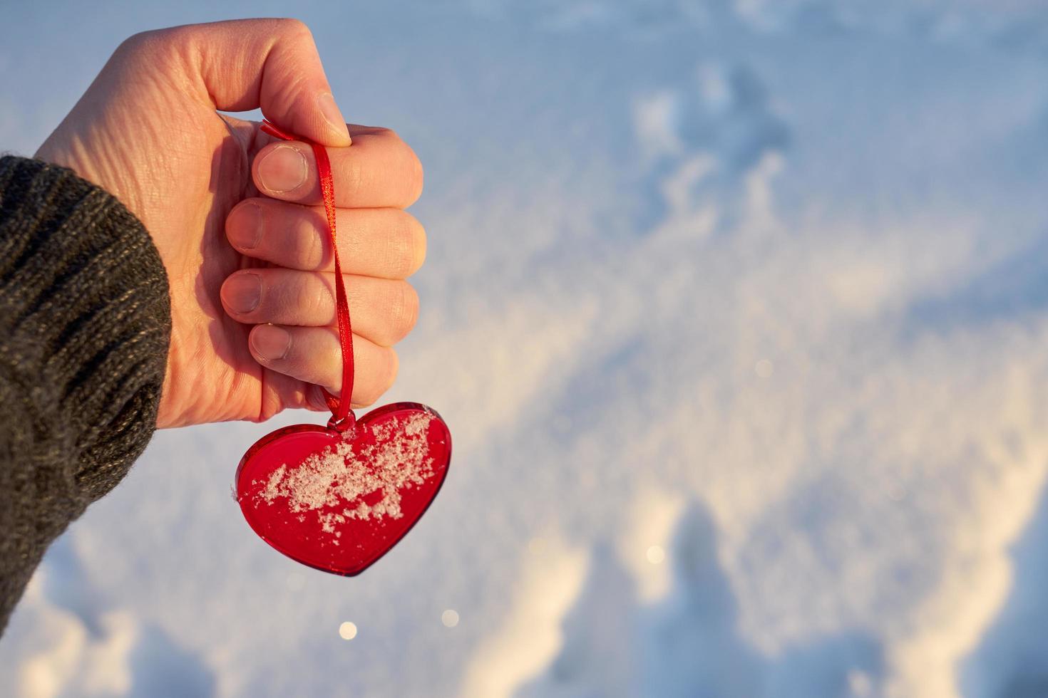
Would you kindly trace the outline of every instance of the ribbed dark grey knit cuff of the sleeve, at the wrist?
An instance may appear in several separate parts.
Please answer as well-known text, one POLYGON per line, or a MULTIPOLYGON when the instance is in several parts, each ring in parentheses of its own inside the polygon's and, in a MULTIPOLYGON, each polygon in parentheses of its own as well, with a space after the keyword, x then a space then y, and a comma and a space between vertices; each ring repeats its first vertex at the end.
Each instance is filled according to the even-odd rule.
POLYGON ((70 170, 0 158, 0 370, 37 428, 72 431, 88 501, 156 428, 170 336, 167 273, 138 219, 70 170))

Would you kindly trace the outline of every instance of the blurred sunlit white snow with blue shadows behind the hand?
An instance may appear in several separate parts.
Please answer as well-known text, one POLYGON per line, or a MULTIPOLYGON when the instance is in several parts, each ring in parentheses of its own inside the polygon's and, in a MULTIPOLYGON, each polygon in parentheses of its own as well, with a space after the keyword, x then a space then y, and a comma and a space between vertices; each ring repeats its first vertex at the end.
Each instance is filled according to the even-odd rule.
POLYGON ((318 415, 157 433, 0 695, 1048 695, 1045 3, 4 4, 23 154, 135 31, 305 20, 425 165, 387 398, 455 453, 342 579, 230 497, 318 415))

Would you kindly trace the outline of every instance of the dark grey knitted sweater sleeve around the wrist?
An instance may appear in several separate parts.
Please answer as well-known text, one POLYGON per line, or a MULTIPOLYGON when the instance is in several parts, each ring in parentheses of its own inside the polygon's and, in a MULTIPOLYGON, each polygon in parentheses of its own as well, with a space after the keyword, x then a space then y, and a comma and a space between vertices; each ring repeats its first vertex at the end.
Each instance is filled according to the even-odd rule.
POLYGON ((0 158, 0 632, 50 542, 152 437, 170 336, 143 224, 69 170, 0 158))

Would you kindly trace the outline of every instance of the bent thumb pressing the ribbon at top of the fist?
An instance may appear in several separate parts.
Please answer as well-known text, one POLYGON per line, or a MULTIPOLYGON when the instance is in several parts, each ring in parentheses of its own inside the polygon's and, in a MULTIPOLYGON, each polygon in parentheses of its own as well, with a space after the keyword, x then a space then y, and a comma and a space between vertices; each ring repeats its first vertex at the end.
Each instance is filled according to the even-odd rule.
POLYGON ((146 36, 150 43, 171 42, 216 109, 261 107, 282 129, 324 145, 350 144, 312 33, 299 20, 191 24, 146 36))

